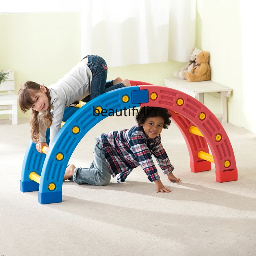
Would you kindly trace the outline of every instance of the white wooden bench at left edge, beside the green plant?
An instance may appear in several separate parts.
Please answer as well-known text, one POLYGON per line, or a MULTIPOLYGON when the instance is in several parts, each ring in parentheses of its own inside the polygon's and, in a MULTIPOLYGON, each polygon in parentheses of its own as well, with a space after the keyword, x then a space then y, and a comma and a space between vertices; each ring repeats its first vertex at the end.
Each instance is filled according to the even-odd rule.
POLYGON ((0 115, 9 114, 9 120, 12 120, 12 124, 18 124, 18 95, 13 92, 13 90, 15 89, 14 71, 9 69, 4 72, 9 72, 9 75, 7 79, 0 84, 0 115))

